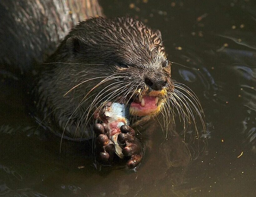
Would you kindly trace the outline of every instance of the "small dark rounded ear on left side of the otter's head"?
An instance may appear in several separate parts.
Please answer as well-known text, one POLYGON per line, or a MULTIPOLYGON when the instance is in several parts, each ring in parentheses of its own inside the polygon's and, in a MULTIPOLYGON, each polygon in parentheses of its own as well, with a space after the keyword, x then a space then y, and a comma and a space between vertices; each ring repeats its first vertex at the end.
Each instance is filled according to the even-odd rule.
POLYGON ((85 40, 81 36, 71 36, 66 39, 66 47, 72 55, 77 55, 85 49, 85 40))

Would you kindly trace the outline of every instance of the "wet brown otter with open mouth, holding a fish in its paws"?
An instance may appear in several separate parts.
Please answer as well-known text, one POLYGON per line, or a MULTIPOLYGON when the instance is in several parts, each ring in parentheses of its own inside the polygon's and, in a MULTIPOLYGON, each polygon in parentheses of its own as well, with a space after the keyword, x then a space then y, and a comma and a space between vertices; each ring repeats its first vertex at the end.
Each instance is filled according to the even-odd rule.
MULTIPOLYGON (((96 131, 101 161, 111 159, 113 147, 104 124, 95 124, 97 110, 115 101, 129 104, 130 115, 137 117, 131 119, 156 115, 174 90, 160 31, 131 17, 80 22, 43 64, 35 83, 43 119, 56 123, 59 135, 68 139, 91 139, 96 131)), ((121 132, 118 142, 129 156, 127 166, 134 168, 143 145, 131 127, 121 132)))

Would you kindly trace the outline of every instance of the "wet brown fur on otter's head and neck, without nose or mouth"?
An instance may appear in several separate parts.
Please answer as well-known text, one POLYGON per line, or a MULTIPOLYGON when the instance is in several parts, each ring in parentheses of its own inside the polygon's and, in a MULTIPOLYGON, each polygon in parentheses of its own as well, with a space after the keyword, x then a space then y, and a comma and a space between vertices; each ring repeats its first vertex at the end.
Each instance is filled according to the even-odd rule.
POLYGON ((129 17, 91 18, 75 26, 44 64, 34 91, 37 108, 63 136, 90 138, 95 108, 139 88, 151 91, 146 77, 165 80, 172 92, 160 31, 129 17))

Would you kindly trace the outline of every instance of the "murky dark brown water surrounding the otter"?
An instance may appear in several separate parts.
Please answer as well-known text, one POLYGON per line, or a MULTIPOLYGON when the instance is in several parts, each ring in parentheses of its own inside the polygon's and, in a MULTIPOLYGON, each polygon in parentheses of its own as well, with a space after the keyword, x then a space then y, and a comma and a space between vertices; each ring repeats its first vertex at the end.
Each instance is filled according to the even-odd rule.
POLYGON ((169 59, 181 64, 173 63, 173 78, 204 108, 207 149, 201 138, 197 154, 190 140, 190 160, 173 128, 165 139, 151 122, 139 129, 138 138, 154 140, 137 172, 122 164, 96 169, 85 154, 89 142, 65 141, 59 154, 60 139, 31 118, 21 81, 2 77, 0 196, 255 196, 254 2, 100 3, 107 17, 129 14, 161 31, 169 59))

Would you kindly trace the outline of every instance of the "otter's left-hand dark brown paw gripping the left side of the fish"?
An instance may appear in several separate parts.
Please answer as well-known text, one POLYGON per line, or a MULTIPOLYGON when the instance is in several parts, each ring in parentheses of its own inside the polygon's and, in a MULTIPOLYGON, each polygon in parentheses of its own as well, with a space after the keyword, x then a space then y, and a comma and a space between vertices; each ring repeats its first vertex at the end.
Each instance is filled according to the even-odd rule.
POLYGON ((108 127, 105 123, 96 123, 94 125, 94 132, 98 135, 96 138, 96 153, 98 155, 98 160, 103 163, 111 162, 115 153, 115 146, 108 138, 108 127))

